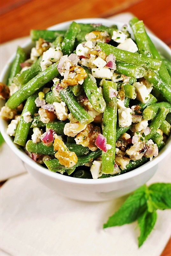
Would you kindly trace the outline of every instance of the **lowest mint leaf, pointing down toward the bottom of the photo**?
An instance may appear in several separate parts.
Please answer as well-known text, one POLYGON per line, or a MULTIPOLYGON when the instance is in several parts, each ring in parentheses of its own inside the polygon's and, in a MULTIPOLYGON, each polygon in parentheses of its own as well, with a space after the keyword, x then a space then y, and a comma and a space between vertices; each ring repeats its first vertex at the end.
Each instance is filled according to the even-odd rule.
POLYGON ((139 247, 144 243, 147 236, 151 233, 156 220, 157 220, 156 211, 148 212, 146 210, 138 217, 138 225, 140 228, 140 236, 138 237, 139 247))

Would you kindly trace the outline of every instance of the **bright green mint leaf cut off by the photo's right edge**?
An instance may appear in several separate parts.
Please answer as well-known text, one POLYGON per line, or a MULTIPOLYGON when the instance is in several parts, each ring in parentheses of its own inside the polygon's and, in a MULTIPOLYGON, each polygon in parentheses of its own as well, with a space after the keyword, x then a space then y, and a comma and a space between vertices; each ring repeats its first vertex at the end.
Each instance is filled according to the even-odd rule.
POLYGON ((154 183, 148 187, 148 211, 171 209, 171 183, 154 183))

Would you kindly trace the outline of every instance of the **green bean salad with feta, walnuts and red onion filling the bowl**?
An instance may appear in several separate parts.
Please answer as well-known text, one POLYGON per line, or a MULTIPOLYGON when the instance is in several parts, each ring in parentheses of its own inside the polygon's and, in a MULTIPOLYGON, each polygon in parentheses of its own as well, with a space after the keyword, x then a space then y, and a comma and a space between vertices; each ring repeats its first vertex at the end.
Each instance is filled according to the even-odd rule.
POLYGON ((66 31, 32 30, 18 47, 1 118, 33 161, 77 178, 129 172, 158 156, 171 130, 171 63, 143 21, 120 30, 71 22, 66 31))

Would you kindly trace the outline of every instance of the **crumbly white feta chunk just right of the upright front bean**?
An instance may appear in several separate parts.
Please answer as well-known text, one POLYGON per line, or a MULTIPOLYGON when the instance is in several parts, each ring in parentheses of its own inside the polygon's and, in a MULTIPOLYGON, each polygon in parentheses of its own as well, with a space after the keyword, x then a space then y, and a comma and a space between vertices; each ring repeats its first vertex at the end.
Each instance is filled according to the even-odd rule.
POLYGON ((132 109, 119 108, 118 109, 119 127, 128 127, 132 124, 132 109))

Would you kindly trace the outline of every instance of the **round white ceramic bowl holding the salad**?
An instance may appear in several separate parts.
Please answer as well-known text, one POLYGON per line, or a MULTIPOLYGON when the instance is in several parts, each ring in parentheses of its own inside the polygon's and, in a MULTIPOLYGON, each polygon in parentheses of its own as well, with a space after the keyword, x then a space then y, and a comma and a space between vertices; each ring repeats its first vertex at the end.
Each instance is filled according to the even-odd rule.
MULTIPOLYGON (((106 26, 112 24, 118 25, 121 28, 125 23, 115 22, 105 19, 81 19, 75 20, 80 23, 102 23, 106 26)), ((60 23, 50 27, 50 30, 64 30, 68 28, 71 21, 60 23)), ((129 26, 128 26, 129 27, 129 26)), ((129 29, 131 32, 131 29, 129 29)), ((170 55, 170 49, 156 36, 150 34, 150 37, 157 47, 157 49, 166 57, 170 55)), ((29 51, 32 47, 31 41, 27 42, 24 46, 26 51, 29 51)), ((14 53, 15 56, 15 53, 14 53)), ((0 81, 6 83, 9 66, 14 56, 11 57, 8 64, 4 67, 4 70, 0 76, 0 81)), ((4 101, 1 101, 1 107, 4 105, 4 101)), ((143 164, 139 168, 127 172, 115 177, 104 178, 104 179, 80 179, 64 176, 59 173, 54 173, 41 165, 34 162, 25 152, 18 149, 13 143, 12 138, 6 134, 7 122, 0 120, 1 133, 10 146, 10 148, 20 157, 25 165, 26 170, 31 173, 37 180, 53 189, 58 194, 66 196, 72 199, 83 200, 83 201, 104 201, 113 199, 119 196, 126 195, 141 185, 145 184, 154 173, 157 171, 157 166, 160 161, 171 151, 171 140, 168 139, 165 147, 160 151, 156 158, 152 161, 143 164)), ((5 170, 4 170, 5 171, 5 170)))

